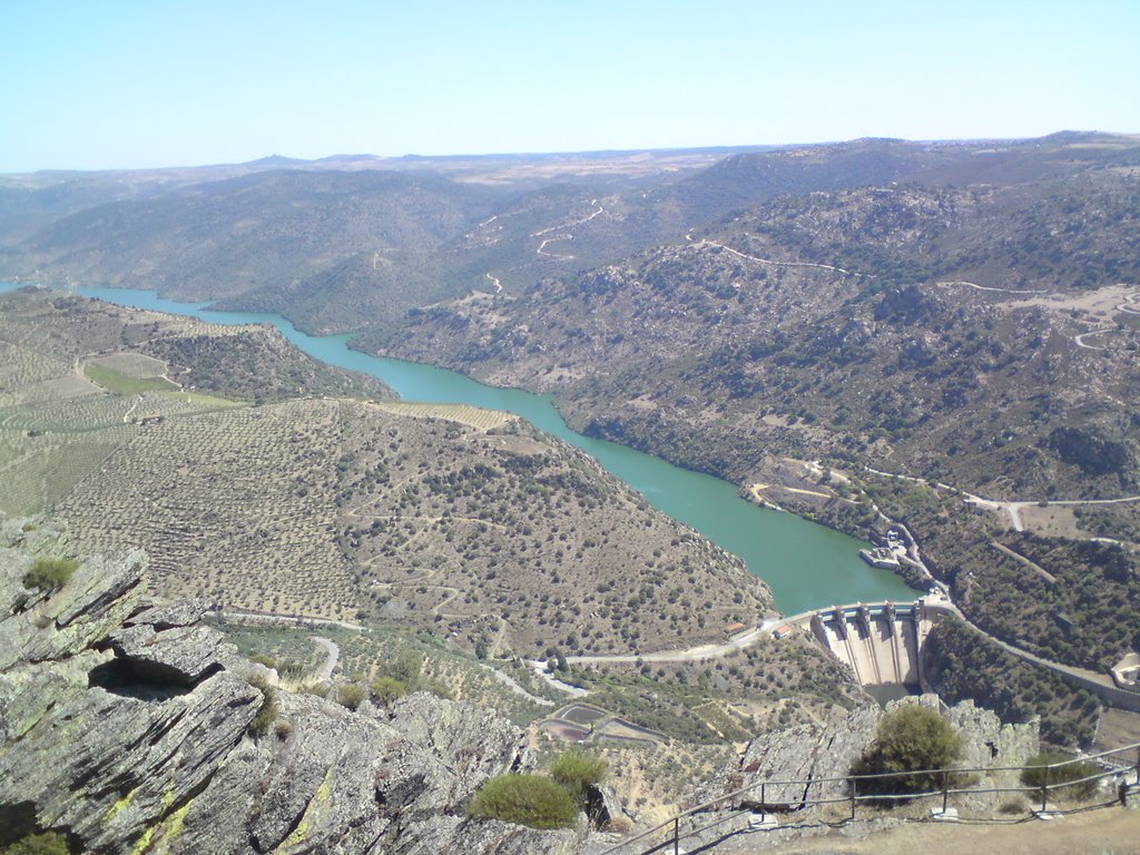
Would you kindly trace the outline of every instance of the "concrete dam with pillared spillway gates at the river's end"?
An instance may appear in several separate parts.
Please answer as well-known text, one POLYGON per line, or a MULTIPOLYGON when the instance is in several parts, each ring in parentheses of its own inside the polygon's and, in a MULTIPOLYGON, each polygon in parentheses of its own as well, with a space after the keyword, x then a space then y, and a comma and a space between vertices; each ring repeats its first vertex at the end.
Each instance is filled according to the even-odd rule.
POLYGON ((936 603, 853 603, 797 616, 865 686, 922 685, 922 645, 944 610, 936 603))

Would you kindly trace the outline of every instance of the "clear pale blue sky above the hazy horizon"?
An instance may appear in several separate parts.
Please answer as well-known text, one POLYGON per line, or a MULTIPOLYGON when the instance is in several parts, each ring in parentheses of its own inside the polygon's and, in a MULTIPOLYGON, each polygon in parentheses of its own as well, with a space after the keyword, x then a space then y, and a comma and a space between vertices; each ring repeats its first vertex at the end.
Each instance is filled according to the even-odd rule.
POLYGON ((0 172, 1140 132, 1140 0, 0 0, 0 172))

